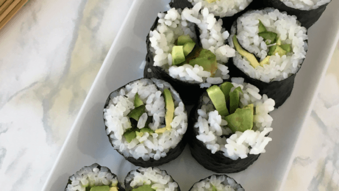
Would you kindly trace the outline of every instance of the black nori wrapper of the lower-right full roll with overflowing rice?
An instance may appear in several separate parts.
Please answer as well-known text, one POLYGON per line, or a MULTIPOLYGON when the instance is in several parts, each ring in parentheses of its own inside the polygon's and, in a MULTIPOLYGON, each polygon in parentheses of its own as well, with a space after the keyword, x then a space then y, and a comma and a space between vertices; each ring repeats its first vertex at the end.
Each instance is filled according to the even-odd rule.
POLYGON ((201 108, 203 103, 202 97, 203 95, 200 96, 198 103, 192 108, 188 119, 187 133, 190 135, 188 144, 191 155, 204 168, 216 173, 235 173, 246 169, 260 154, 247 154, 246 158, 232 160, 224 156, 220 150, 212 154, 211 151, 206 148, 206 145, 196 138, 198 135, 198 128, 195 128, 194 124, 199 117, 197 110, 201 108))

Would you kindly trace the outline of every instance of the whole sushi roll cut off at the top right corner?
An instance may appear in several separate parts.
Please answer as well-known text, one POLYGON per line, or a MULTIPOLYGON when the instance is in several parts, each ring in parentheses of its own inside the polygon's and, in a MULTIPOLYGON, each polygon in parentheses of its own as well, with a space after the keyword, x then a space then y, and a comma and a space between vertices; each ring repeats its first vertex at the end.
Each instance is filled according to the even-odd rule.
POLYGON ((262 0, 265 7, 295 15, 306 29, 310 28, 325 11, 331 0, 262 0))

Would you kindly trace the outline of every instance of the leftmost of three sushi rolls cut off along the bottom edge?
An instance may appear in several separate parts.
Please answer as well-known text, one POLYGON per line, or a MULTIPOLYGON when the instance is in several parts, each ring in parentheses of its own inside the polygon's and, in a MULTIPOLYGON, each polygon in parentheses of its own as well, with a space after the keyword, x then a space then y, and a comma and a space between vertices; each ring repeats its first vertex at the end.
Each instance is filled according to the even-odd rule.
POLYGON ((94 163, 69 176, 65 191, 123 191, 115 174, 94 163))

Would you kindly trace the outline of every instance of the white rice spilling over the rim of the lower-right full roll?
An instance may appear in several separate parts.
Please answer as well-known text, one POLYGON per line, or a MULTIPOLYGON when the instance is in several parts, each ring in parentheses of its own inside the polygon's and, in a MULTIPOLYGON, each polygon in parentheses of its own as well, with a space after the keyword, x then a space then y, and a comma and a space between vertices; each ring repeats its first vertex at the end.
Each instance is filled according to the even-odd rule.
POLYGON ((243 82, 243 78, 231 79, 233 91, 236 87, 240 87, 240 107, 248 104, 254 105, 255 114, 253 116, 252 130, 244 132, 236 131, 229 138, 221 137, 221 135, 231 134, 231 130, 227 127, 227 121, 221 118, 218 111, 215 110, 213 103, 205 94, 203 104, 197 110, 198 121, 194 124, 198 128, 196 138, 202 141, 206 148, 215 153, 221 151, 226 157, 233 160, 237 158, 245 158, 247 154, 259 154, 265 152, 265 146, 272 139, 265 135, 272 131, 272 117, 268 114, 274 109, 274 100, 267 98, 265 94, 259 94, 259 89, 251 84, 243 82))

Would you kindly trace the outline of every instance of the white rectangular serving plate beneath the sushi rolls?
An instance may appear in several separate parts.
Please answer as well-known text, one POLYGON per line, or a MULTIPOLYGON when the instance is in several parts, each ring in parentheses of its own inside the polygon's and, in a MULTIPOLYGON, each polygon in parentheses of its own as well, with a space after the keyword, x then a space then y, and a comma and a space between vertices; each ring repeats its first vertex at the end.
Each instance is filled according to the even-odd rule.
MULTIPOLYGON (((166 11, 169 0, 134 0, 116 36, 77 118, 56 158, 42 188, 43 191, 64 190, 68 177, 94 162, 107 166, 122 183, 127 172, 137 167, 126 161, 110 145, 102 119, 103 106, 109 93, 126 83, 141 78, 140 63, 146 56, 146 36, 158 12, 166 11)), ((319 81, 324 76, 339 38, 339 1, 333 0, 320 20, 308 32, 306 59, 296 75, 291 96, 271 112, 272 141, 266 153, 246 170, 228 174, 245 190, 282 190, 295 145, 306 117, 310 114, 319 81)), ((306 132, 305 132, 306 133, 306 132)), ((181 190, 214 172, 204 169, 190 155, 188 145, 175 160, 159 166, 177 181, 181 190)))

